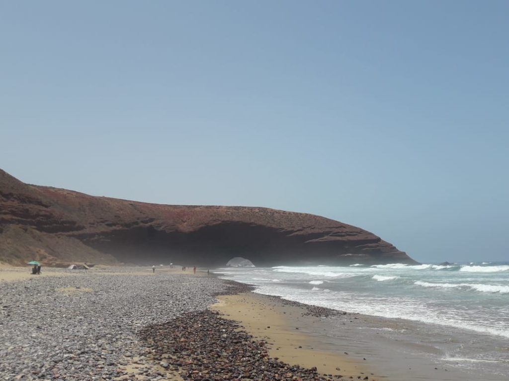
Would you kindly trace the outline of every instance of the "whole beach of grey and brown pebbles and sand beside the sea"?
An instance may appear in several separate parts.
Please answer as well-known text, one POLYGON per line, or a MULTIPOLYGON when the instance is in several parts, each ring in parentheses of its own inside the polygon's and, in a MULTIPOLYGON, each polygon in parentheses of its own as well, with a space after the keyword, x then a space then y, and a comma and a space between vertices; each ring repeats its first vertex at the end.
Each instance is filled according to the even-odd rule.
MULTIPOLYGON (((0 379, 14 379, 25 374, 25 368, 26 378, 19 379, 37 378, 28 374, 39 374, 41 365, 32 357, 23 360, 30 355, 24 352, 26 345, 42 354, 39 364, 44 364, 42 372, 48 379, 53 379, 49 371, 66 375, 74 366, 64 365, 67 361, 90 363, 91 357, 97 369, 90 372, 119 380, 158 376, 205 380, 212 373, 204 372, 211 368, 201 364, 214 364, 223 357, 234 364, 220 364, 232 378, 210 379, 497 379, 444 369, 430 359, 405 353, 408 345, 418 343, 379 335, 386 329, 405 328, 405 322, 262 295, 248 284, 219 278, 217 273, 208 275, 206 270, 193 274, 192 269, 182 272, 179 267, 155 272, 149 266, 46 269, 46 276, 31 276, 24 268, 0 271, 4 305, 0 340, 10 343, 9 351, 0 348, 7 364, 0 364, 0 379), (35 303, 23 301, 23 295, 35 295, 35 303), (26 335, 23 327, 42 327, 48 319, 50 327, 26 335), (74 336, 62 336, 64 331, 74 336), (99 347, 97 340, 103 342, 99 347), (219 349, 224 340, 229 345, 219 349), (214 351, 220 351, 219 357, 214 351), (244 351, 244 357, 235 351, 244 351), (61 354, 58 360, 55 353, 61 354), (264 378, 260 369, 270 377, 264 378)), ((75 379, 82 376, 66 378, 75 379)))

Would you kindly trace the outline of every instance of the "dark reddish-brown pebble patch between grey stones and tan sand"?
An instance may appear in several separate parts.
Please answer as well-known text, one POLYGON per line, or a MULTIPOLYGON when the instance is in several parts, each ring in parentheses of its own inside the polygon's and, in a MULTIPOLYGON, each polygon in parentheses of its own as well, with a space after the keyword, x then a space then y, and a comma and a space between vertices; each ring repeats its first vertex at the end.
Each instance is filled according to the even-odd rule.
MULTIPOLYGON (((267 352, 270 344, 265 339, 254 338, 242 331, 236 322, 223 319, 210 310, 184 314, 166 323, 147 326, 139 335, 155 359, 163 359, 168 369, 178 369, 184 379, 326 381, 333 377, 332 374, 319 374, 316 367, 292 366, 277 357, 271 358, 267 352), (263 371, 260 372, 260 369, 263 371)), ((163 373, 160 376, 166 376, 164 372, 160 373, 163 373)), ((155 376, 148 371, 143 374, 155 376)))

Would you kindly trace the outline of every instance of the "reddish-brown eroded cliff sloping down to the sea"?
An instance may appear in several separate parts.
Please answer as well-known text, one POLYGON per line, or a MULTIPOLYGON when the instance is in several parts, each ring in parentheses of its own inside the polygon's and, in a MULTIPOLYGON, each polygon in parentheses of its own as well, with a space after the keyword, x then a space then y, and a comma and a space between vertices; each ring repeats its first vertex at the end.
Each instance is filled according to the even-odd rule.
POLYGON ((254 207, 158 205, 25 184, 0 170, 0 261, 224 266, 415 263, 373 233, 254 207))

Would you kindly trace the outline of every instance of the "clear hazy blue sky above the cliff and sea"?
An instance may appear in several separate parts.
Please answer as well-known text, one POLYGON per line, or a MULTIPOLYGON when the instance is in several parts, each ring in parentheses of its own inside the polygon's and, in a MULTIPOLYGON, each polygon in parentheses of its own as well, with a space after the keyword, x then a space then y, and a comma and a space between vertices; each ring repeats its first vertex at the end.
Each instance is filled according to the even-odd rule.
POLYGON ((0 168, 509 260, 506 1, 0 2, 0 168))

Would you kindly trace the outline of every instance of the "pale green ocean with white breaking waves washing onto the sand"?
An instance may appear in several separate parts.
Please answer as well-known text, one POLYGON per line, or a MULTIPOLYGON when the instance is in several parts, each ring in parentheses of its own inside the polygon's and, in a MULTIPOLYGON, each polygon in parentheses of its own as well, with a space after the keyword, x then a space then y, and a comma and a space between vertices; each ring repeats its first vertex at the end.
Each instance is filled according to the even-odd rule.
POLYGON ((406 343, 406 352, 443 366, 493 379, 509 376, 509 262, 214 272, 252 284, 257 293, 385 318, 386 327, 377 320, 360 328, 406 343))

